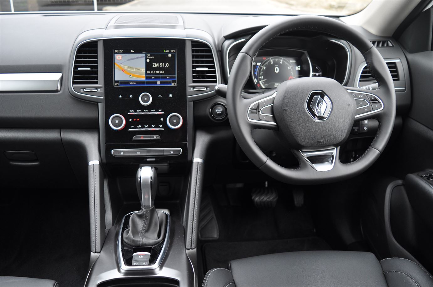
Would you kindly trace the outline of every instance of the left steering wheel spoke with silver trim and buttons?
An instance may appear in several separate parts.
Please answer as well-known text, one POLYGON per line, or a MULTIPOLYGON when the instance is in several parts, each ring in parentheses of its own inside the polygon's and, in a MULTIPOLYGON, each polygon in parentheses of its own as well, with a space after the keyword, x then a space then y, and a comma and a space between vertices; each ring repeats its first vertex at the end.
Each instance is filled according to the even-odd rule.
POLYGON ((262 128, 278 130, 274 115, 274 99, 277 90, 273 89, 250 98, 244 99, 243 110, 251 129, 262 128))

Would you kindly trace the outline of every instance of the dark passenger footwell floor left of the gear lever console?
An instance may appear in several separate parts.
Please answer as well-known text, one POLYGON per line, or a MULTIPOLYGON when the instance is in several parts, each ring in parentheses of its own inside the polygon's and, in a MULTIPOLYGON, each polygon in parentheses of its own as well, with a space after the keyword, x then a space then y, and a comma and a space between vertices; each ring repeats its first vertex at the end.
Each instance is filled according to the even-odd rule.
MULTIPOLYGON (((6 191, 6 190, 4 190, 6 191)), ((52 279, 82 287, 90 257, 86 190, 15 191, 2 206, 0 275, 52 279)))

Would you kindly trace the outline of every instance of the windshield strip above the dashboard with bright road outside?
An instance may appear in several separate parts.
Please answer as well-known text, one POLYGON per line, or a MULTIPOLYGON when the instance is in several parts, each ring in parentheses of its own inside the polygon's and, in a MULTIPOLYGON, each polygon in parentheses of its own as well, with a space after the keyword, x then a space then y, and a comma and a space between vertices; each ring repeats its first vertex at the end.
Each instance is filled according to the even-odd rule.
POLYGON ((135 11, 351 15, 372 0, 0 0, 0 12, 135 11))

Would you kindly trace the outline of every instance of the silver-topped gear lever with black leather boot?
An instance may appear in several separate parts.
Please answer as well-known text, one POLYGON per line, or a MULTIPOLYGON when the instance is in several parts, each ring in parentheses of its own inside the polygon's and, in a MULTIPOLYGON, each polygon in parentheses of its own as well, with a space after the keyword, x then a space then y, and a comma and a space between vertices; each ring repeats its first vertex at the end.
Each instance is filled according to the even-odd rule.
POLYGON ((136 176, 141 208, 129 218, 129 228, 123 232, 123 243, 130 247, 155 246, 165 235, 166 215, 158 212, 153 203, 158 188, 155 168, 141 166, 136 176))

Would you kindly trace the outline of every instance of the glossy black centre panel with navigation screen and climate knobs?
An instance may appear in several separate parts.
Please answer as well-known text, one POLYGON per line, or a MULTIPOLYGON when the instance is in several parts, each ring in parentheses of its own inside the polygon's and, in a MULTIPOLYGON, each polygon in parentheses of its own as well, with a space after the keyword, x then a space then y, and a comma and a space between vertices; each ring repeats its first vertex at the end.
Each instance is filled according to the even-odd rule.
POLYGON ((188 156, 186 40, 103 40, 106 163, 188 156))

